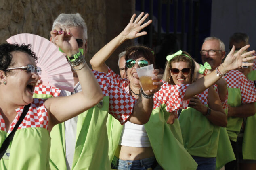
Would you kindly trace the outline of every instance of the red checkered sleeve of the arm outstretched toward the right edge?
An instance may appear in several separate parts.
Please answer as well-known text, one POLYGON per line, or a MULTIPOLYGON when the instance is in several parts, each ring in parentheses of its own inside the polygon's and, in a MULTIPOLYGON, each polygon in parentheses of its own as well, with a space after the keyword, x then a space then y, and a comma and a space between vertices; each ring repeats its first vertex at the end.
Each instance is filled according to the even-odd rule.
POLYGON ((189 100, 183 101, 185 91, 189 84, 171 85, 161 80, 164 84, 161 89, 154 95, 153 109, 160 107, 162 104, 166 105, 166 111, 172 112, 178 109, 186 109, 189 100))

